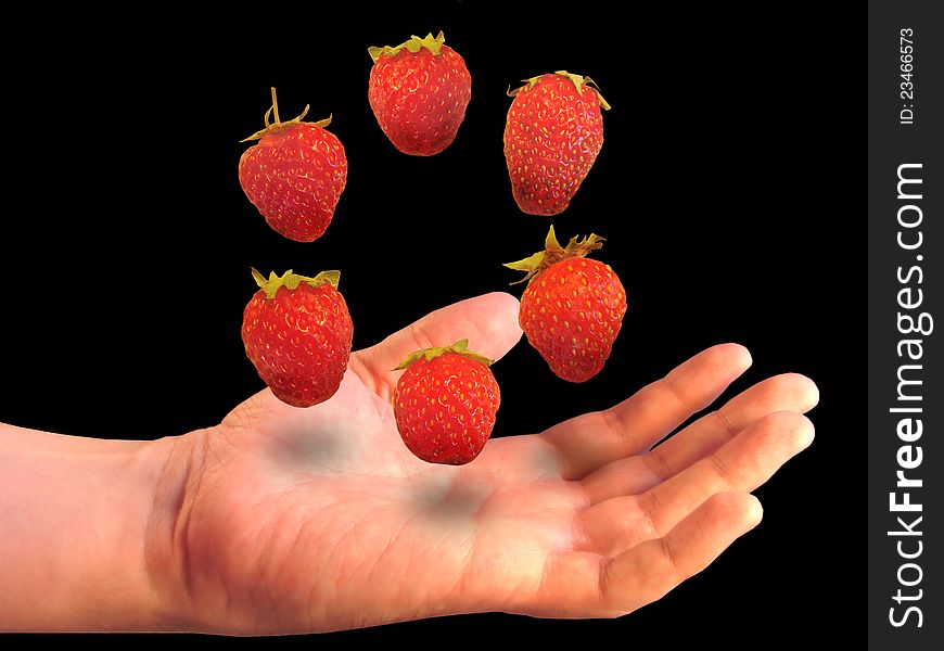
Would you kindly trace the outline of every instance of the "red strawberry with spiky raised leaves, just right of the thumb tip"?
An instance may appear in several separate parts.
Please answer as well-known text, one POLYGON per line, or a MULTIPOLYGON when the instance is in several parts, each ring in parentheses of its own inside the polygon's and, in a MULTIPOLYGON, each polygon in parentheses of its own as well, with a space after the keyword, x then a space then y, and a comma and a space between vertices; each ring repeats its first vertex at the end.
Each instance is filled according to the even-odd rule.
POLYGON ((586 382, 610 357, 626 314, 626 292, 609 265, 586 259, 603 238, 572 238, 561 247, 550 228, 545 251, 505 265, 527 271, 519 323, 558 378, 586 382))

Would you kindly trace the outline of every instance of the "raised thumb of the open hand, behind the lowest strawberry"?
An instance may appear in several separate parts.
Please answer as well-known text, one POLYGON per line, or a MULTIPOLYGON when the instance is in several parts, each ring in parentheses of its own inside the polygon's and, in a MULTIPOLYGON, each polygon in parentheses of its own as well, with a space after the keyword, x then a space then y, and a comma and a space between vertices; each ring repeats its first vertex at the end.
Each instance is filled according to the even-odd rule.
POLYGON ((359 363, 353 367, 361 380, 385 397, 396 383, 396 375, 391 371, 414 350, 448 346, 468 339, 470 350, 500 359, 521 339, 518 309, 518 298, 505 292, 454 303, 430 312, 375 346, 355 353, 352 360, 359 363))

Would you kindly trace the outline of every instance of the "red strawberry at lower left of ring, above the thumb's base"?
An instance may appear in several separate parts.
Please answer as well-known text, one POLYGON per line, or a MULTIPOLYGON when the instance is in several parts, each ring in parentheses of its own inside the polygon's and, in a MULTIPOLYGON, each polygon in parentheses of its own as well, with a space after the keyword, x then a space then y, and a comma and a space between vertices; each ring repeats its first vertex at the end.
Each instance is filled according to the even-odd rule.
POLYGON ((315 278, 253 269, 261 288, 243 311, 246 355, 276 397, 310 407, 334 395, 347 368, 354 324, 337 292, 340 271, 315 278))

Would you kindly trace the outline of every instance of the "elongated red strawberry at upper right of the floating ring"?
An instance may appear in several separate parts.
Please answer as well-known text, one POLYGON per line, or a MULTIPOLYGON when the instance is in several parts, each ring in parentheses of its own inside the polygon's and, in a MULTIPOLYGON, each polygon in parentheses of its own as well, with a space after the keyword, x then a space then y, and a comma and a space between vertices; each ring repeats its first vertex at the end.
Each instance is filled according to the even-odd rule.
POLYGON ((514 101, 505 125, 505 161, 525 213, 564 212, 603 146, 600 107, 609 111, 610 104, 588 84, 589 77, 559 71, 508 93, 514 101))

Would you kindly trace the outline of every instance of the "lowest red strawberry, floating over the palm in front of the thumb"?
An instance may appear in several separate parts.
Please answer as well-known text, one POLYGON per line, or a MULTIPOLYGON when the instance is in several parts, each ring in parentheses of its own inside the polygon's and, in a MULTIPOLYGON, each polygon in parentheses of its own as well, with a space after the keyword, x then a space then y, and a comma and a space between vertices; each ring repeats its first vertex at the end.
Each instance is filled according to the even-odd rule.
POLYGON ((469 340, 417 350, 397 369, 397 430, 412 454, 430 463, 461 465, 479 456, 501 401, 492 360, 468 349, 469 340))

